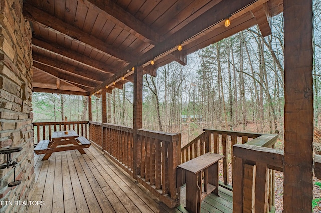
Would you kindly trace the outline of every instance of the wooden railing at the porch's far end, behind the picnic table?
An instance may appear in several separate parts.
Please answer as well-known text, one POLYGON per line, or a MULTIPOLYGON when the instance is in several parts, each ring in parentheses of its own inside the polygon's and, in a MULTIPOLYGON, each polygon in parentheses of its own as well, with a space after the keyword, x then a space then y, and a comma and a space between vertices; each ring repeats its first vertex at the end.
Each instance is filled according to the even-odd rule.
POLYGON ((70 122, 35 122, 34 125, 34 144, 40 140, 51 140, 51 134, 54 131, 74 130, 79 136, 88 138, 88 121, 70 121, 70 122))

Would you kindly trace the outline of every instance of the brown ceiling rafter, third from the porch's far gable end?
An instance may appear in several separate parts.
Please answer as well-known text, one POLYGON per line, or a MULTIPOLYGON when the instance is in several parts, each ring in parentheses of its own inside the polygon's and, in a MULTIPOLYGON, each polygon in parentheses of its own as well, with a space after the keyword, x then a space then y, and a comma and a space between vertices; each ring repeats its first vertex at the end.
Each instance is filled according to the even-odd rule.
POLYGON ((63 46, 59 46, 54 43, 49 43, 46 41, 39 40, 36 37, 32 38, 32 45, 36 48, 40 48, 45 51, 52 52, 53 54, 59 55, 61 57, 70 58, 74 61, 77 61, 78 63, 98 69, 103 72, 107 72, 107 73, 115 73, 116 72, 116 70, 112 66, 109 66, 103 62, 92 59, 90 57, 87 57, 83 54, 80 54, 76 51, 65 48, 63 46))

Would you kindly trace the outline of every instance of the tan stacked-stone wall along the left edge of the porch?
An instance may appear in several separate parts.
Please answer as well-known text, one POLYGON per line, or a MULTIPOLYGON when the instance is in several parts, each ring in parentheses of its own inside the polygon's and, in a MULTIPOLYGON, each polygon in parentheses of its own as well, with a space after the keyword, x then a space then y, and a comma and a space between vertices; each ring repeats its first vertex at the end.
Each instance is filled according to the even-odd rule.
MULTIPOLYGON (((35 179, 31 27, 22 15, 22 6, 22 0, 0 0, 0 148, 23 148, 12 154, 18 162, 16 179, 22 181, 20 185, 8 187, 8 182, 14 180, 12 167, 0 170, 1 212, 24 212, 35 179)), ((4 154, 0 155, 0 164, 4 160, 4 154)))

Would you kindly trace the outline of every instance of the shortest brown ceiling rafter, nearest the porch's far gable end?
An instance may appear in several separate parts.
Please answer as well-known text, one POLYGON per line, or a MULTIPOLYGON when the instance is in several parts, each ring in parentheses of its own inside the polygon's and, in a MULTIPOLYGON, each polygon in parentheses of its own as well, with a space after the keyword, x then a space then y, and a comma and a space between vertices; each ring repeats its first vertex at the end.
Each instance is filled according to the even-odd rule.
POLYGON ((84 79, 84 78, 79 77, 75 74, 70 74, 66 71, 59 71, 59 70, 52 68, 50 66, 46 66, 44 64, 38 63, 37 61, 34 61, 33 67, 38 68, 42 71, 45 71, 51 75, 54 75, 55 77, 57 77, 59 79, 66 80, 69 82, 74 82, 74 83, 84 85, 87 87, 96 87, 100 84, 100 81, 91 80, 89 78, 84 79))

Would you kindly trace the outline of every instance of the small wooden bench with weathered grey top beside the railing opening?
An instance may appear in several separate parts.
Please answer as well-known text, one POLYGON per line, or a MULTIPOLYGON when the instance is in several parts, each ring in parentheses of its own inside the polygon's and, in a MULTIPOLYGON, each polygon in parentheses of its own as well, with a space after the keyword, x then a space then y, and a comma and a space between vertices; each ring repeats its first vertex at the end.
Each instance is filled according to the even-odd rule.
POLYGON ((202 200, 213 191, 218 196, 218 161, 223 157, 206 153, 177 167, 178 187, 186 183, 185 208, 189 212, 200 212, 202 200))

